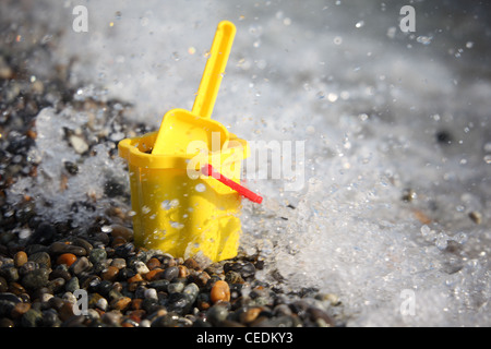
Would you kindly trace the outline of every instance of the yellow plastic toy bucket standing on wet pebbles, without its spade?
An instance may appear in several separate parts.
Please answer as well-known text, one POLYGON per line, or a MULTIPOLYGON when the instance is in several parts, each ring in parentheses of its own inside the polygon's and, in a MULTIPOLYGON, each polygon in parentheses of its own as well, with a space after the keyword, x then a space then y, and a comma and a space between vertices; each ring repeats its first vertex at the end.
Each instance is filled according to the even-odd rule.
POLYGON ((154 155, 156 136, 153 132, 118 144, 129 166, 135 244, 183 258, 199 251, 213 262, 236 256, 241 195, 212 177, 192 174, 207 163, 240 183, 248 143, 230 133, 217 152, 154 155))

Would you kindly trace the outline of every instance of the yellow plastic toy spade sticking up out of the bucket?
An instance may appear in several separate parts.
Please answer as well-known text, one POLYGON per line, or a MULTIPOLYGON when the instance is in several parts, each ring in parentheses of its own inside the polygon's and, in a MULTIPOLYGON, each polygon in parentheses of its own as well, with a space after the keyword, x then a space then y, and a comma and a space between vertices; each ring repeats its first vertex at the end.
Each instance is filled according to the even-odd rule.
POLYGON ((192 111, 172 109, 164 116, 152 154, 185 154, 193 141, 204 142, 212 151, 214 132, 219 134, 220 149, 227 144, 228 130, 211 117, 235 35, 231 22, 218 24, 192 111))

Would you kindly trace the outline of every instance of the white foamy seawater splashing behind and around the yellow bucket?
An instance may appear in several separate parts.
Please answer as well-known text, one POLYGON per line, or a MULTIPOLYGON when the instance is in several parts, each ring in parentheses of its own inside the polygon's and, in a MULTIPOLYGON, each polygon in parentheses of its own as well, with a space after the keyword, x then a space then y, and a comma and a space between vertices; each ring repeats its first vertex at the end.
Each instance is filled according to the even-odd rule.
MULTIPOLYGON (((422 1, 424 35, 407 35, 394 26, 403 4, 196 2, 190 12, 179 2, 164 11, 158 1, 104 1, 87 4, 87 33, 68 29, 53 49, 60 62, 77 58, 74 83, 133 103, 129 117, 156 130, 166 110, 191 109, 215 24, 231 19, 238 34, 214 118, 246 140, 306 141, 300 190, 286 191, 288 178, 247 173, 247 185, 265 197, 261 206, 244 201, 241 217, 242 249, 266 262, 258 277, 287 291, 338 294, 348 325, 489 325, 486 11, 474 13, 476 27, 458 26, 470 12, 422 1), (414 294, 409 315, 400 310, 405 294, 414 294)), ((51 25, 70 28, 56 9, 51 25)), ((40 111, 29 156, 41 176, 12 188, 43 198, 41 213, 81 224, 91 213, 65 204, 89 193, 103 205, 104 179, 127 174, 108 156, 113 143, 103 143, 60 193, 60 164, 82 158, 60 130, 76 130, 86 117, 40 111)))

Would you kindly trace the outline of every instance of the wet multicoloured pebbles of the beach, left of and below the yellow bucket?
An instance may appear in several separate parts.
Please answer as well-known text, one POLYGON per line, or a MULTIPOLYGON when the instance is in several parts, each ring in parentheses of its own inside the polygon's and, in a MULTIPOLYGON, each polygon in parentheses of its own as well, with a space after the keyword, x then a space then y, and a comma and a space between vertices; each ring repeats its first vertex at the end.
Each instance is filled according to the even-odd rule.
MULTIPOLYGON (((255 279, 264 261, 239 256, 209 264, 206 260, 176 258, 161 251, 133 244, 128 190, 108 182, 105 195, 117 197, 82 225, 56 221, 36 212, 36 197, 25 195, 19 205, 8 190, 21 178, 43 176, 28 158, 35 144, 36 115, 67 105, 82 112, 103 110, 118 118, 125 132, 144 129, 121 119, 121 103, 76 98, 67 72, 49 82, 36 80, 24 67, 10 62, 19 55, 3 47, 1 61, 0 159, 0 326, 1 327, 192 327, 192 326, 335 326, 339 304, 333 297, 306 290, 285 294, 255 279), (124 125, 124 127, 123 127, 124 125), (75 314, 77 290, 87 292, 86 314, 75 314)), ((60 71, 60 69, 58 69, 60 71)), ((107 124, 105 124, 107 127, 107 124)), ((113 128, 115 125, 112 125, 113 128)), ((96 129, 94 127, 94 129, 96 129)), ((67 134, 74 130, 67 130, 67 134)), ((82 157, 107 142, 108 132, 70 135, 67 142, 82 157), (82 144, 83 143, 83 144, 82 144)), ((116 145, 116 143, 113 143, 116 145)), ((116 158, 116 152, 110 156, 116 158)), ((65 177, 77 174, 75 163, 64 163, 65 177)), ((64 190, 67 181, 60 183, 64 190)), ((72 208, 94 207, 94 201, 73 202, 72 208)), ((51 216, 52 217, 52 216, 51 216)), ((80 305, 81 306, 81 305, 80 305)), ((77 308, 79 309, 79 308, 77 308)))

